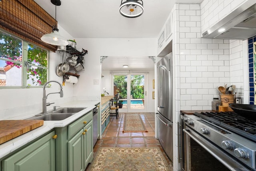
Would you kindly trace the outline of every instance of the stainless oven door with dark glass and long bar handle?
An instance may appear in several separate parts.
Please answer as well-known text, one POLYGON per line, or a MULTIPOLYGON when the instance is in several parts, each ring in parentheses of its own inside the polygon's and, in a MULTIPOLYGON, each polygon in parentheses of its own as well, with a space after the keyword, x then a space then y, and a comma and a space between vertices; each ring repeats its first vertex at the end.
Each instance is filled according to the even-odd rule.
POLYGON ((183 171, 249 171, 235 159, 224 153, 196 133, 188 125, 183 129, 183 171))

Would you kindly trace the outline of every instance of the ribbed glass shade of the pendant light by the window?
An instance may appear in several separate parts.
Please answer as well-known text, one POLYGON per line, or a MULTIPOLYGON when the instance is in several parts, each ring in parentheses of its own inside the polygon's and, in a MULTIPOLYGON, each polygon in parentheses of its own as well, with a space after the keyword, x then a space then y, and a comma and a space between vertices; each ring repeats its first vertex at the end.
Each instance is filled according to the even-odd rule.
POLYGON ((42 36, 41 40, 45 43, 55 45, 55 46, 67 46, 68 41, 60 36, 59 32, 56 30, 53 30, 52 33, 45 34, 42 36))

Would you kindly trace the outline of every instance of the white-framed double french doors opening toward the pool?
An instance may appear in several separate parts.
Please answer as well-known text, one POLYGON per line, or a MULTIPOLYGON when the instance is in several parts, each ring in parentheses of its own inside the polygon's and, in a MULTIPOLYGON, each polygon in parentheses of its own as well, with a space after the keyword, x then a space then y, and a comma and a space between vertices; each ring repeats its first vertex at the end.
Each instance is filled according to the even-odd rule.
POLYGON ((112 74, 114 94, 119 93, 121 112, 147 112, 148 74, 112 74))

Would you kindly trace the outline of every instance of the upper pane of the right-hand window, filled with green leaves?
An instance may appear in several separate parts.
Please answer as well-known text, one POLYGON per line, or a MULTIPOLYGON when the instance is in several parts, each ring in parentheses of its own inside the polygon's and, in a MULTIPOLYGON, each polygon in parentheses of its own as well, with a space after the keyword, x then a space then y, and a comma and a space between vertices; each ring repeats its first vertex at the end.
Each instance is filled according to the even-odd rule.
POLYGON ((47 67, 47 51, 28 44, 28 64, 47 67))

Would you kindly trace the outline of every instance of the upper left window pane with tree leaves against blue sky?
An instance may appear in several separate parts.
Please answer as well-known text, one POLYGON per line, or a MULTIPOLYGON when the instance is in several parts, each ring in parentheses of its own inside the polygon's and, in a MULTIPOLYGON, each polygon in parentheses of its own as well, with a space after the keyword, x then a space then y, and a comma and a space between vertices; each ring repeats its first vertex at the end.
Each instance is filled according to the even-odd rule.
POLYGON ((0 32, 0 58, 19 60, 22 57, 22 41, 9 34, 0 32))

